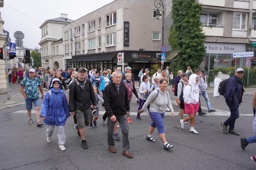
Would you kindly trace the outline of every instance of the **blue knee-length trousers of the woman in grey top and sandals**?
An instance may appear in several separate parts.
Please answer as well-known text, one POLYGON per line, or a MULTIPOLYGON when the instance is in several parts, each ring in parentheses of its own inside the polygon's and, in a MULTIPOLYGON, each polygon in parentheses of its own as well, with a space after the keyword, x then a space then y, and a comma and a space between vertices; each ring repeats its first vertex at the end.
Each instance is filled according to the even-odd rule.
POLYGON ((163 125, 163 115, 165 113, 158 113, 158 112, 152 112, 150 113, 152 122, 150 126, 156 128, 157 127, 157 132, 158 134, 162 134, 165 132, 164 125, 163 125))

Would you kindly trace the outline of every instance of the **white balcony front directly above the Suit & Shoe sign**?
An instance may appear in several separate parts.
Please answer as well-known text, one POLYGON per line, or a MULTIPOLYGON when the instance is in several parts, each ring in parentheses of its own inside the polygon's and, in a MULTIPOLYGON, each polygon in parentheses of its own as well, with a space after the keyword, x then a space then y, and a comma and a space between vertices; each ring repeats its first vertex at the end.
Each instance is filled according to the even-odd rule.
POLYGON ((223 25, 202 25, 202 31, 206 36, 223 37, 224 26, 223 25))

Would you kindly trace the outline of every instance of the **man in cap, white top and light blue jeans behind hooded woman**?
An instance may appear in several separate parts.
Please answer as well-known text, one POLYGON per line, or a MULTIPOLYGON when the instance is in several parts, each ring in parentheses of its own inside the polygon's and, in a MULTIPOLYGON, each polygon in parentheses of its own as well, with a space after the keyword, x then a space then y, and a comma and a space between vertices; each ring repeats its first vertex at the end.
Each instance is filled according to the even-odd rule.
POLYGON ((211 112, 215 112, 216 110, 211 108, 211 103, 210 103, 209 97, 207 95, 206 90, 207 90, 208 85, 207 85, 206 78, 205 78, 206 74, 207 74, 206 70, 204 70, 204 69, 201 70, 199 89, 201 91, 200 96, 204 97, 207 108, 208 108, 208 112, 211 113, 211 112))

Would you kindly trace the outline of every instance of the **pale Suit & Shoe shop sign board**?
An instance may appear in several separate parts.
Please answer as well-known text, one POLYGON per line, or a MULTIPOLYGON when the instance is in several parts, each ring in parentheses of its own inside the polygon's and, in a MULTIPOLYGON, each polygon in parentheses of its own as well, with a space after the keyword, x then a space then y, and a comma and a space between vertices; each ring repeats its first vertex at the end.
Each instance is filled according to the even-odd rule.
POLYGON ((217 54, 232 54, 234 52, 240 52, 246 50, 245 44, 236 43, 204 43, 206 46, 206 53, 217 54))

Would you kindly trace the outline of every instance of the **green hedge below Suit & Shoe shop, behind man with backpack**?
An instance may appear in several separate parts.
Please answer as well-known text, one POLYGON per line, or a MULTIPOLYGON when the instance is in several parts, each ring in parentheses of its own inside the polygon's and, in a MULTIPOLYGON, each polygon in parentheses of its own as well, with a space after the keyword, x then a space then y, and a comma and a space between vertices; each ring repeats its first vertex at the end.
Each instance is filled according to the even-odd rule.
MULTIPOLYGON (((248 68, 244 67, 244 76, 242 77, 244 86, 247 85, 247 75, 248 75, 248 68)), ((230 77, 234 76, 235 73, 235 68, 231 67, 231 68, 216 68, 216 69, 212 69, 209 71, 209 75, 208 75, 208 82, 213 82, 215 76, 218 74, 218 72, 222 72, 225 74, 229 74, 230 77)), ((253 86, 256 85, 256 68, 251 68, 249 70, 249 85, 253 86)))

